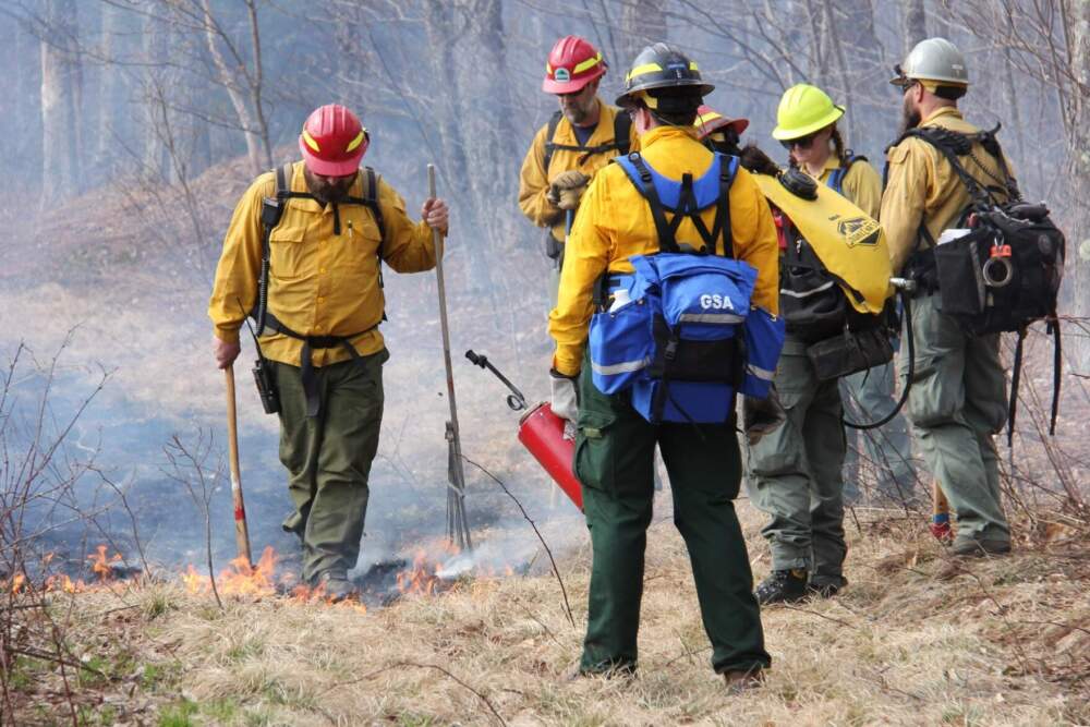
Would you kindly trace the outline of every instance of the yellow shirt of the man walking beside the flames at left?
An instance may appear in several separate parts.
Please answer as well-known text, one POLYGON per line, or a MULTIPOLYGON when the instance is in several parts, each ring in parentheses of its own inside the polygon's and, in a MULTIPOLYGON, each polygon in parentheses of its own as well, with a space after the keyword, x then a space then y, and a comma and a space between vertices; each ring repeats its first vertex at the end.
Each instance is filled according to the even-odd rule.
MULTIPOLYGON (((361 173, 350 196, 362 196, 361 173)), ((306 192, 303 162, 296 161, 292 192, 306 192)), ((262 199, 276 196, 276 175, 262 174, 242 195, 223 239, 208 316, 216 336, 239 340, 239 327, 257 301, 262 267, 262 199)), ((383 260, 398 272, 435 267, 435 245, 426 222, 413 223, 404 201, 379 178, 378 205, 386 239, 383 260)), ((378 226, 363 205, 339 205, 341 233, 334 234, 332 205, 314 199, 289 199, 269 241, 268 310, 283 325, 303 336, 351 336, 361 355, 383 349, 376 327, 385 301, 378 282, 378 226), (368 330, 370 329, 370 330, 368 330), (361 332, 364 331, 364 332, 361 332)), ((303 343, 281 334, 262 337, 262 351, 272 361, 300 365, 303 343)), ((350 358, 343 347, 315 349, 312 361, 324 366, 350 358)))

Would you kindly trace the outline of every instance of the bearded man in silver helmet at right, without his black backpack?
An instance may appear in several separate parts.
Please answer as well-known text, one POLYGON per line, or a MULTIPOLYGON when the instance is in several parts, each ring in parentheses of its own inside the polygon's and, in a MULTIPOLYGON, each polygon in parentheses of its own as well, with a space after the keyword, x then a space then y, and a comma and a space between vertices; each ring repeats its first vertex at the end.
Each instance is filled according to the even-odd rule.
MULTIPOLYGON (((971 146, 962 156, 966 173, 998 201, 1010 198, 1017 189, 1003 153, 993 154, 974 141, 980 130, 957 108, 969 88, 968 69, 957 47, 945 38, 928 38, 896 71, 891 83, 904 93, 904 129, 968 138, 971 146)), ((934 247, 944 230, 964 227, 969 191, 945 155, 923 138, 903 136, 889 147, 886 159, 882 226, 893 269, 921 286, 912 301, 916 373, 908 398, 912 433, 957 516, 954 554, 1003 555, 1010 552, 1010 526, 1003 512, 993 439, 1007 413, 1000 334, 970 336, 962 330, 940 310, 935 279, 934 247)), ((904 348, 900 354, 907 355, 904 348)), ((906 372, 904 361, 899 367, 906 372)))

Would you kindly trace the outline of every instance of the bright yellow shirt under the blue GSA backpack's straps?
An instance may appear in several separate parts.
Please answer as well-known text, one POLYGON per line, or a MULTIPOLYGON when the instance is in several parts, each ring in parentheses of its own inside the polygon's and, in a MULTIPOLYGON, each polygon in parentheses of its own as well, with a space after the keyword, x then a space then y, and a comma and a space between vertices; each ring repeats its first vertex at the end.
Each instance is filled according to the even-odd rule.
MULTIPOLYGON (((698 179, 712 166, 712 153, 697 141, 693 129, 657 126, 640 137, 640 146, 647 165, 673 180, 680 180, 686 172, 698 179)), ((711 229, 715 207, 702 211, 701 218, 711 229)), ((779 251, 775 222, 761 189, 741 168, 730 187, 730 234, 735 257, 758 270, 753 305, 778 313, 779 251)), ((690 219, 682 220, 677 239, 702 243, 690 219)), ((576 215, 560 274, 559 302, 549 314, 549 334, 556 340, 553 365, 558 372, 574 376, 582 367, 598 277, 607 270, 630 274, 630 256, 657 252, 658 234, 647 201, 620 166, 606 167, 591 182, 576 215)), ((722 238, 716 241, 716 252, 723 253, 722 238)))

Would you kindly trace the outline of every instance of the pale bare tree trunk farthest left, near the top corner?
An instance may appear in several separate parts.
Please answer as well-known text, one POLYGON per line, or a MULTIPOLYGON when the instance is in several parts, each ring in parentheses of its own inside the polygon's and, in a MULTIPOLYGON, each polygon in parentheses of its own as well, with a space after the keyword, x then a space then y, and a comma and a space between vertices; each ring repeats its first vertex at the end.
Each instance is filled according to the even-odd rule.
POLYGON ((41 41, 41 206, 78 192, 75 0, 46 0, 48 37, 41 41))

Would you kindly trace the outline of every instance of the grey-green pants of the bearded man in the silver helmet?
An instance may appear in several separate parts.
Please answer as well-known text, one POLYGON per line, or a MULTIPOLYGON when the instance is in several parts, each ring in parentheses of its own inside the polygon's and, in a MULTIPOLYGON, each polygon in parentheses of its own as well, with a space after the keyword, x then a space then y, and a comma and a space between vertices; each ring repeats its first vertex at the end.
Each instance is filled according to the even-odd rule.
MULTIPOLYGON (((905 323, 906 330, 908 323, 905 323)), ((923 458, 957 516, 958 540, 1010 540, 1000 501, 993 436, 1006 422, 1000 335, 970 337, 938 312, 937 295, 912 301, 916 372, 908 419, 923 458)), ((903 337, 904 340, 904 337, 903 337)), ((908 376, 908 347, 898 368, 908 376)))

